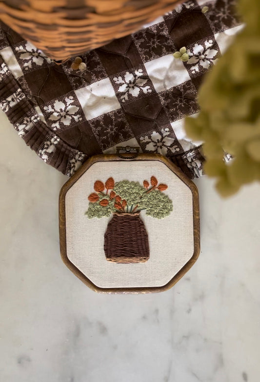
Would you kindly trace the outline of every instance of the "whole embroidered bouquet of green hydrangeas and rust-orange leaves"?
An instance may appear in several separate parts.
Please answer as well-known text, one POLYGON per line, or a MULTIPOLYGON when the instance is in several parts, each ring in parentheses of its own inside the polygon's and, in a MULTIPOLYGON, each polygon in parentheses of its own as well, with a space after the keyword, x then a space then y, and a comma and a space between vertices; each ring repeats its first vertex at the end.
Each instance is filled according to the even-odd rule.
POLYGON ((113 213, 136 214, 142 210, 148 216, 162 219, 173 210, 172 201, 163 193, 168 188, 164 183, 158 183, 152 176, 150 183, 143 181, 141 185, 135 181, 114 181, 113 178, 103 183, 96 181, 95 192, 88 197, 89 206, 85 215, 89 218, 109 217, 113 213))

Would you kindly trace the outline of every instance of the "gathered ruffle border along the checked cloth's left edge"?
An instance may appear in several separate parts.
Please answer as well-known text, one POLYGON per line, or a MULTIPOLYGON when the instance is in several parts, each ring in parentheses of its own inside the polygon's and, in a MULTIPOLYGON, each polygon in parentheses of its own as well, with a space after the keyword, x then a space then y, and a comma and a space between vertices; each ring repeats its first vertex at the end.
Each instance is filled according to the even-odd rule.
POLYGON ((13 74, 0 57, 0 107, 20 138, 47 164, 72 176, 87 156, 70 147, 40 120, 13 74))

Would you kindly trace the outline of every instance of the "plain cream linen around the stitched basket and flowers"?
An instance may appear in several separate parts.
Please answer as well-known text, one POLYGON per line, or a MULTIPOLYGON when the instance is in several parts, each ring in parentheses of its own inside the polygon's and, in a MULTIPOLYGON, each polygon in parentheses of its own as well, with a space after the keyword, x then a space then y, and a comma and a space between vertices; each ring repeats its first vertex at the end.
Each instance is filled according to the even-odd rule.
MULTIPOLYGON (((99 287, 161 286, 192 257, 193 209, 190 189, 160 161, 98 162, 93 164, 66 194, 67 256, 99 287), (150 259, 146 263, 117 264, 106 261, 104 233, 111 218, 88 219, 88 195, 96 180, 149 180, 154 175, 166 183, 165 193, 173 211, 165 219, 154 219, 141 211, 149 237, 150 259)), ((112 216, 111 216, 112 217, 112 216)))

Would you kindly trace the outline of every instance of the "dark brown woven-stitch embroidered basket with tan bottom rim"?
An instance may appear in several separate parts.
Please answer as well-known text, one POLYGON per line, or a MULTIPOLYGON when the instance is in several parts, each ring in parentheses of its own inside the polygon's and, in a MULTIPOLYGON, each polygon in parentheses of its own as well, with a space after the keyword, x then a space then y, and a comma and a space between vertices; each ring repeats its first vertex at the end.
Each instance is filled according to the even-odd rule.
POLYGON ((149 259, 148 235, 140 213, 115 213, 107 225, 104 251, 107 261, 144 262, 149 259))

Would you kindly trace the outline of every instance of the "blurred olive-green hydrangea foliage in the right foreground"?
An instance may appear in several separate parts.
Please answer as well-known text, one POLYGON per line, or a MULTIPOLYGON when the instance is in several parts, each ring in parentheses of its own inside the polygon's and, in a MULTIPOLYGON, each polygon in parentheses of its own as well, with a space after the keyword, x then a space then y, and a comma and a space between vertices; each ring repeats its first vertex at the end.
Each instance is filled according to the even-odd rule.
POLYGON ((224 197, 260 181, 260 0, 240 0, 238 11, 245 26, 206 75, 200 114, 185 121, 188 136, 204 141, 205 172, 224 197), (234 159, 225 163, 223 151, 234 159))

